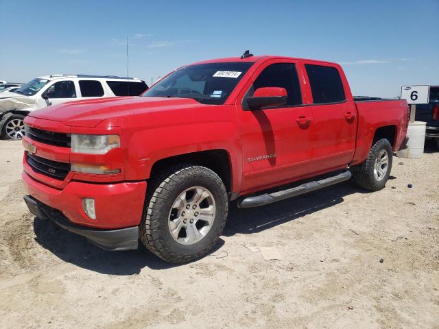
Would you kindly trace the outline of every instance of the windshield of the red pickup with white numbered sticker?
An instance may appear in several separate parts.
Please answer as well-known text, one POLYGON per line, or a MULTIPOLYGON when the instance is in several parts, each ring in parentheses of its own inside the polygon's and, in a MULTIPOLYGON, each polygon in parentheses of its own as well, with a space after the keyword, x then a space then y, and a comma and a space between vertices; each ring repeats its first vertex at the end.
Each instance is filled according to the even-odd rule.
POLYGON ((223 104, 252 64, 223 62, 185 66, 146 90, 143 97, 180 97, 204 104, 223 104))

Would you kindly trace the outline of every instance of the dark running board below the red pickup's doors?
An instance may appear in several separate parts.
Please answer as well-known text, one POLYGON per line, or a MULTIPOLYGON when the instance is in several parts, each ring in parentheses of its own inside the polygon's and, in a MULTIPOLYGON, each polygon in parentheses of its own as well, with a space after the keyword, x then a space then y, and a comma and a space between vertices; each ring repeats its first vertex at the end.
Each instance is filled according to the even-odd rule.
POLYGON ((304 183, 302 185, 288 188, 287 190, 265 193, 263 195, 257 195, 255 197, 246 197, 237 203, 238 208, 252 208, 265 206, 265 204, 272 204, 273 202, 278 202, 283 199, 288 199, 289 197, 296 197, 297 195, 308 193, 311 191, 319 190, 333 184, 344 182, 350 179, 352 176, 351 171, 344 171, 330 178, 325 178, 324 180, 315 180, 313 182, 304 183))

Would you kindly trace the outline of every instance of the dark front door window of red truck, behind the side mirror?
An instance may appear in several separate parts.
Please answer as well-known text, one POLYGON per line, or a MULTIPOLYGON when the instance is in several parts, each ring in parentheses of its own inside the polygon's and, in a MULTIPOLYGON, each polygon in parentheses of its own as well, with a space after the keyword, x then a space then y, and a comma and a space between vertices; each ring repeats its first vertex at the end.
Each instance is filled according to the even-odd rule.
POLYGON ((253 83, 254 90, 263 87, 285 88, 288 94, 287 106, 302 103, 302 93, 295 64, 276 63, 267 66, 253 83))

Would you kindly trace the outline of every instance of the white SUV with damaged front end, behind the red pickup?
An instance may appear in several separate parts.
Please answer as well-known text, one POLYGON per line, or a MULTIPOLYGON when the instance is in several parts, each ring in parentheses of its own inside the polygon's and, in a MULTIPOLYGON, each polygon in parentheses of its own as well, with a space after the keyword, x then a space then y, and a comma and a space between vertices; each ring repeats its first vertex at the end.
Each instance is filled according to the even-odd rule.
POLYGON ((47 75, 0 93, 1 138, 21 139, 29 112, 55 104, 99 97, 139 96, 148 86, 132 77, 112 75, 47 75))

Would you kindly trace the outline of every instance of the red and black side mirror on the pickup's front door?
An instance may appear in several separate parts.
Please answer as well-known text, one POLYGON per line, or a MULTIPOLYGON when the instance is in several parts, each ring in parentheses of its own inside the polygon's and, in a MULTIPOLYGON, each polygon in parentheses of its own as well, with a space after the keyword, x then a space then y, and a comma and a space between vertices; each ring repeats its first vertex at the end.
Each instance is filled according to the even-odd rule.
POLYGON ((250 110, 261 110, 269 106, 283 106, 287 104, 288 94, 285 88, 264 87, 257 88, 252 97, 247 97, 250 110))

